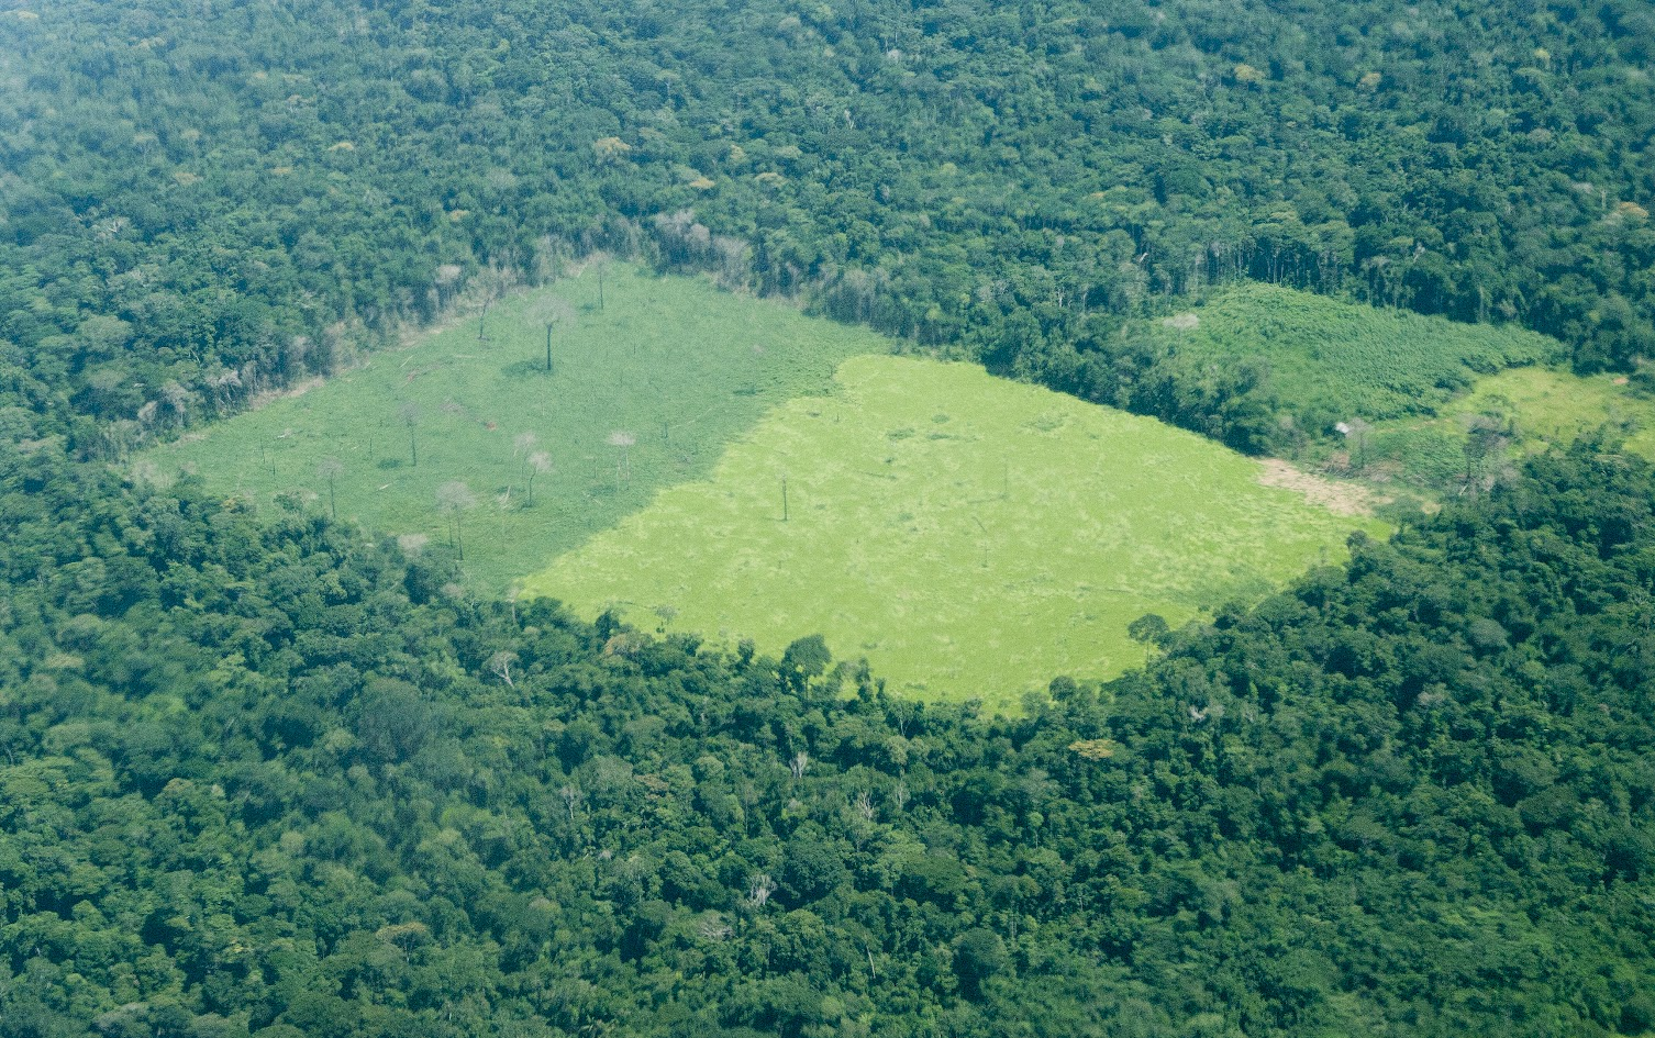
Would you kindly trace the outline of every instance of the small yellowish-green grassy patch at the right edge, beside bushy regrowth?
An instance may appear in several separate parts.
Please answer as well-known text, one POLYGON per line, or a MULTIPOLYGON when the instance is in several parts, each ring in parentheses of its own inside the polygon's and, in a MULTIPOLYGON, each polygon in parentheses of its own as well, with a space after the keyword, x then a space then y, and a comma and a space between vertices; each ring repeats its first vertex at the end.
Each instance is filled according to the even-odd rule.
POLYGON ((1655 399, 1615 376, 1577 376, 1557 368, 1511 368, 1480 379, 1437 417, 1374 425, 1367 452, 1380 467, 1425 483, 1450 485, 1468 470, 1465 445, 1473 419, 1493 419, 1518 454, 1567 445, 1610 429, 1624 449, 1655 460, 1655 399))

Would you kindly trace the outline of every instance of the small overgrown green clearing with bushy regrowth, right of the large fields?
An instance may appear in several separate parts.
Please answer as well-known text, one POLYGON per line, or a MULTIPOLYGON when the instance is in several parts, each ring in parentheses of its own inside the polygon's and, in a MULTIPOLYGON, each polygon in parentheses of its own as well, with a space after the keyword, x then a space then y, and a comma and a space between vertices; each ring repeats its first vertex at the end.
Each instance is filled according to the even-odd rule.
MULTIPOLYGON (((1200 324, 1155 324, 1192 363, 1258 359, 1296 414, 1332 424, 1430 414, 1480 374, 1552 356, 1557 343, 1509 326, 1461 324, 1246 283, 1195 311, 1200 324)), ((1319 429, 1312 432, 1321 432, 1319 429)))

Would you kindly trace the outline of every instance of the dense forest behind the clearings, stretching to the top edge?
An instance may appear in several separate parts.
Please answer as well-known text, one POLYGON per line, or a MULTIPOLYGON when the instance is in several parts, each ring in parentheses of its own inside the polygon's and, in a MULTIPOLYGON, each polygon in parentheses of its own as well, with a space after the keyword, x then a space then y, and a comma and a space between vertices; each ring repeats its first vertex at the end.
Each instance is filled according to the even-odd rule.
POLYGON ((17 3, 8 429, 121 450, 604 247, 1094 394, 1114 315, 1240 276, 1629 368, 1652 38, 1635 0, 17 3))

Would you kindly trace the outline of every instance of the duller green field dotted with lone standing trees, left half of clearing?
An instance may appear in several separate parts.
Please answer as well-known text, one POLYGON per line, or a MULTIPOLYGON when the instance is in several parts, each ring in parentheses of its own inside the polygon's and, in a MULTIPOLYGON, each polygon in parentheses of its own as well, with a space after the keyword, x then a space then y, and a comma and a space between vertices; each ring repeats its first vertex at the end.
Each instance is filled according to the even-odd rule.
POLYGON ((328 508, 324 459, 338 459, 339 518, 392 535, 447 541, 442 483, 463 480, 477 507, 462 513, 472 581, 503 589, 665 485, 705 475, 725 444, 766 411, 821 392, 837 363, 885 351, 869 331, 806 318, 775 303, 720 293, 698 280, 654 278, 617 267, 586 272, 488 313, 487 343, 470 318, 409 349, 369 361, 303 396, 230 419, 194 442, 147 452, 156 472, 197 470, 223 493, 260 507, 276 495, 316 495, 328 508), (544 359, 544 295, 569 303, 544 359), (569 320, 573 318, 573 321, 569 320), (412 464, 404 407, 419 411, 412 464), (551 455, 526 507, 520 434, 551 455), (634 447, 612 447, 627 432, 634 447))

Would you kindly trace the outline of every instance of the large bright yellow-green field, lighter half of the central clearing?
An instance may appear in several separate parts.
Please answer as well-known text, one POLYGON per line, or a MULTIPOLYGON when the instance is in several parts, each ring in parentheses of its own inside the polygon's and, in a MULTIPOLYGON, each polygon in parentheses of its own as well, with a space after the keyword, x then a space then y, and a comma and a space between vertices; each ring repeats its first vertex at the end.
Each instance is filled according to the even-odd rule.
POLYGON ((1058 674, 1142 662, 1125 631, 1145 613, 1178 626, 1258 599, 1337 560, 1354 528, 1382 531, 1259 472, 976 366, 852 358, 831 396, 780 406, 710 480, 523 589, 768 652, 824 634, 902 692, 1011 707, 1058 674))

